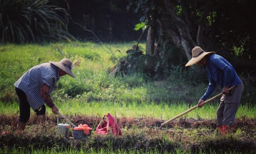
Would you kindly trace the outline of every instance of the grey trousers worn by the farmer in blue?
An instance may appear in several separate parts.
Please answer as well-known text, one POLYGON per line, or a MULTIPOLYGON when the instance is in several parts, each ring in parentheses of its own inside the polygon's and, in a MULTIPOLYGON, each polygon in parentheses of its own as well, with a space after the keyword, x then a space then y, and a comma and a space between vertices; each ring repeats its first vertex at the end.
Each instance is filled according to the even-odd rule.
POLYGON ((240 83, 229 94, 222 95, 217 110, 217 125, 233 126, 235 124, 235 114, 237 113, 242 93, 243 83, 240 83))

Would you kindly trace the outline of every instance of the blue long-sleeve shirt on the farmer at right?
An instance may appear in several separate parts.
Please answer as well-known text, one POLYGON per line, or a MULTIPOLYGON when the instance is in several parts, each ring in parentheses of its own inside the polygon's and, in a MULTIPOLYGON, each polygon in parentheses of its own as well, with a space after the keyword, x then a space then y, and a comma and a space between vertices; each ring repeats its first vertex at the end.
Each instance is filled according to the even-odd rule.
POLYGON ((206 93, 201 97, 202 100, 206 100, 216 88, 218 84, 222 88, 224 86, 237 86, 242 81, 238 77, 233 66, 225 60, 223 57, 217 54, 211 54, 207 57, 206 74, 209 78, 209 85, 206 93))

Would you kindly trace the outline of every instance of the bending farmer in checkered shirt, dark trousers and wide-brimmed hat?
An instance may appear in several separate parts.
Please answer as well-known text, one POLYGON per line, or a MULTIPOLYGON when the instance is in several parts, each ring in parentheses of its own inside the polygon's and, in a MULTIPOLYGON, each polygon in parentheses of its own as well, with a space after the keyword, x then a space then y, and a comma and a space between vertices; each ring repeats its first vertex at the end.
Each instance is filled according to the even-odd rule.
POLYGON ((30 107, 36 112, 39 123, 44 123, 46 120, 44 103, 52 109, 53 113, 57 114, 59 110, 52 102, 50 93, 61 76, 69 74, 75 78, 71 70, 72 62, 64 58, 60 62, 48 62, 34 66, 15 82, 15 91, 19 97, 17 134, 25 129, 30 117, 30 107))

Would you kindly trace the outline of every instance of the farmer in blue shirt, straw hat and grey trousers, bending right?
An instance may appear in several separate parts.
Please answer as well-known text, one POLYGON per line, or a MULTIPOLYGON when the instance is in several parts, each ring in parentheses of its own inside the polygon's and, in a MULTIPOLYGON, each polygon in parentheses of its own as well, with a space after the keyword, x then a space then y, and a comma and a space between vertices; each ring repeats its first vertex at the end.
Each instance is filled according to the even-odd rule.
POLYGON ((198 101, 198 107, 203 106, 201 103, 206 101, 212 94, 216 85, 223 88, 223 95, 217 110, 217 125, 220 133, 227 134, 235 123, 235 115, 243 92, 243 83, 233 66, 223 57, 215 54, 215 52, 205 52, 201 47, 194 47, 192 49, 192 58, 186 66, 193 64, 203 67, 209 78, 208 88, 198 101), (235 86, 235 88, 228 91, 231 86, 235 86))

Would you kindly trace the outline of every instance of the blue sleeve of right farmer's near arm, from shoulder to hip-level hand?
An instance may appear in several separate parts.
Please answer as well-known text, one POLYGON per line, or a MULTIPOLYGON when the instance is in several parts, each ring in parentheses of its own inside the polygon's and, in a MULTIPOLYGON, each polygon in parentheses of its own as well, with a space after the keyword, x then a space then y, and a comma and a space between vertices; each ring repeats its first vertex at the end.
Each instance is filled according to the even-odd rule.
POLYGON ((231 68, 221 59, 214 59, 212 63, 224 72, 224 86, 229 86, 231 68))

